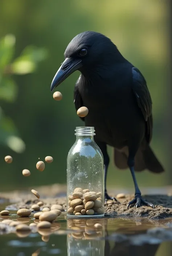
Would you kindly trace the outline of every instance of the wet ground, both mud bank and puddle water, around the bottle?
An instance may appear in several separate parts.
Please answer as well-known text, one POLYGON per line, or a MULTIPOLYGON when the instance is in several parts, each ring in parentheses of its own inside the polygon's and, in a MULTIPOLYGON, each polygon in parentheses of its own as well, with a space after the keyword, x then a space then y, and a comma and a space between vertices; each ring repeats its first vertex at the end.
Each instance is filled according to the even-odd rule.
MULTIPOLYGON (((59 193, 58 197, 57 194, 51 198, 42 196, 44 207, 59 203, 65 209, 63 191, 59 193)), ((38 222, 33 218, 34 212, 25 218, 16 214, 19 208, 29 208, 37 202, 30 193, 13 192, 11 197, 6 194, 4 198, 1 195, 0 211, 9 209, 10 215, 0 216, 0 222, 4 219, 17 220, 27 225, 38 222), (17 198, 15 193, 19 193, 17 198)), ((37 230, 33 227, 29 232, 16 232, 15 228, 0 223, 0 256, 171 256, 171 196, 145 196, 155 203, 155 210, 142 207, 127 211, 126 204, 130 198, 132 195, 119 199, 119 206, 108 204, 105 218, 66 220, 64 211, 50 229, 37 230), (102 227, 95 228, 95 223, 102 227)))

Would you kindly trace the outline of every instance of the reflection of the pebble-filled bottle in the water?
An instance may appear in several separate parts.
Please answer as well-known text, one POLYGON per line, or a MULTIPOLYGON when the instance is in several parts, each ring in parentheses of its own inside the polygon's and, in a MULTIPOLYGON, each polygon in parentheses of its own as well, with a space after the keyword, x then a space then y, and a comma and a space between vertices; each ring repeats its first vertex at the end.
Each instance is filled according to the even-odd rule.
POLYGON ((68 219, 68 256, 105 256, 104 219, 68 219))

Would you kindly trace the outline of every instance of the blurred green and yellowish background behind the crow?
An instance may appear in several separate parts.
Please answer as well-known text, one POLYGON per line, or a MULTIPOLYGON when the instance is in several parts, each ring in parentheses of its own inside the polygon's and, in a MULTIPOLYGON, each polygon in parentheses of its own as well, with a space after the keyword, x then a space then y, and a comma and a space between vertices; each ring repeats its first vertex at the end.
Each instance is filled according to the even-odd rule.
MULTIPOLYGON (((166 1, 26 1, 0 0, 0 190, 66 182, 66 157, 75 141, 74 129, 84 126, 73 104, 72 74, 54 101, 50 84, 70 40, 91 30, 110 37, 147 80, 153 101, 151 146, 166 172, 138 173, 141 186, 171 184, 167 126, 169 84, 169 16, 166 1), (13 163, 4 161, 12 155, 13 163), (54 158, 44 172, 38 158, 54 158), (22 170, 31 171, 29 177, 22 170)), ((108 152, 112 156, 112 149, 108 152)), ((108 186, 133 187, 130 171, 111 164, 108 186)))

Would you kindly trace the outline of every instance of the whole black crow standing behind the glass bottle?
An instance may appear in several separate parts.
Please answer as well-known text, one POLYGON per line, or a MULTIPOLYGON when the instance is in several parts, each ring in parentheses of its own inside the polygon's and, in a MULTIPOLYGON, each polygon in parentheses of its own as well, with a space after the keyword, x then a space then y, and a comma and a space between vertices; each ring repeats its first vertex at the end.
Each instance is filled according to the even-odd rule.
MULTIPOLYGON (((79 76, 74 88, 76 110, 86 106, 85 126, 94 126, 95 142, 102 151, 106 177, 109 164, 107 145, 114 147, 114 162, 119 169, 130 168, 135 198, 128 203, 155 208, 141 195, 135 171, 164 171, 151 147, 152 100, 146 80, 138 68, 127 61, 110 38, 86 31, 75 36, 67 46, 65 61, 51 84, 51 92, 75 70, 79 76)), ((117 200, 116 200, 117 201, 117 200)))

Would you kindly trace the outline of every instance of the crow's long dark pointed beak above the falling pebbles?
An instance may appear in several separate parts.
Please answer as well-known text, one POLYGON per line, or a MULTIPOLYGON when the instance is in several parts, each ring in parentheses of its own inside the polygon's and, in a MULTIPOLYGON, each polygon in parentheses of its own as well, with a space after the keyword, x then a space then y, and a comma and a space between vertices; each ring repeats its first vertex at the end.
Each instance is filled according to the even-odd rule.
POLYGON ((75 70, 78 70, 81 67, 82 60, 66 58, 53 78, 51 84, 51 92, 54 90, 54 88, 60 85, 68 76, 70 76, 70 74, 72 74, 75 70))

